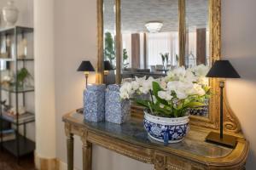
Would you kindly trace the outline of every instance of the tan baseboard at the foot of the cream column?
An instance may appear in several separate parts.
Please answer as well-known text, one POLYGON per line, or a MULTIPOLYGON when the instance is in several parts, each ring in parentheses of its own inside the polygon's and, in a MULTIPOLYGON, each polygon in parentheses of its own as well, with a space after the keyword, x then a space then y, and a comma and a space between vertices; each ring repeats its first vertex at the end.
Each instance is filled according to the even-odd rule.
POLYGON ((60 170, 60 161, 56 158, 43 158, 35 152, 35 164, 38 170, 60 170))

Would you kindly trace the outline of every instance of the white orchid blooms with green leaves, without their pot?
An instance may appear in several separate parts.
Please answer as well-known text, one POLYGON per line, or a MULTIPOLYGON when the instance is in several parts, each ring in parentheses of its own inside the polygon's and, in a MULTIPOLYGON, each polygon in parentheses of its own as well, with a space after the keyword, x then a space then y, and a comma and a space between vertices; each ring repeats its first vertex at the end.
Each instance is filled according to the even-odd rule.
POLYGON ((151 99, 133 99, 154 116, 182 117, 191 108, 205 105, 210 87, 206 74, 209 68, 197 65, 190 69, 183 66, 167 73, 166 77, 136 77, 133 82, 125 82, 120 88, 121 99, 133 99, 132 94, 150 94, 151 99))

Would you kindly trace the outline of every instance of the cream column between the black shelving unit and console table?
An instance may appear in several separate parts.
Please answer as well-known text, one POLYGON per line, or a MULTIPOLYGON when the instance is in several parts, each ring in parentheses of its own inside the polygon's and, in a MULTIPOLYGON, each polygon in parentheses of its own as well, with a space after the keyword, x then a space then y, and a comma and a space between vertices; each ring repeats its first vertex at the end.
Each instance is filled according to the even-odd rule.
POLYGON ((52 0, 34 4, 36 154, 43 158, 56 156, 54 7, 52 0))

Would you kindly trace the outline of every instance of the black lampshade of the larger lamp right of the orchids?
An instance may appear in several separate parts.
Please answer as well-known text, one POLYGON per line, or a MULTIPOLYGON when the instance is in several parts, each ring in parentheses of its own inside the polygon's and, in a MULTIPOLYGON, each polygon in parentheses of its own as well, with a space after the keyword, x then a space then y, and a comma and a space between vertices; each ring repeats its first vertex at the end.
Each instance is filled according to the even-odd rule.
POLYGON ((216 60, 207 73, 207 77, 240 78, 229 60, 216 60))

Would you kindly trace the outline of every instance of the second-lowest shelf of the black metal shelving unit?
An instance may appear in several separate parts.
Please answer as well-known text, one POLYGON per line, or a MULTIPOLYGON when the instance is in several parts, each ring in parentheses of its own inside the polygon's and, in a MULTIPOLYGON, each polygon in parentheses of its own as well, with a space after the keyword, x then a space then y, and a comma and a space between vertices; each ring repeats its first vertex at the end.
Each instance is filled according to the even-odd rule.
MULTIPOLYGON (((3 113, 2 116, 0 116, 3 120, 11 122, 13 124, 17 123, 17 119, 15 116, 10 116, 7 113, 3 113)), ((35 115, 31 112, 26 112, 22 115, 19 115, 19 125, 26 124, 29 122, 35 122, 35 115)))

